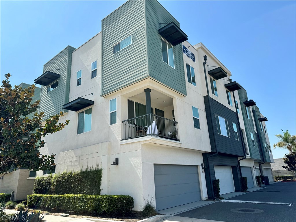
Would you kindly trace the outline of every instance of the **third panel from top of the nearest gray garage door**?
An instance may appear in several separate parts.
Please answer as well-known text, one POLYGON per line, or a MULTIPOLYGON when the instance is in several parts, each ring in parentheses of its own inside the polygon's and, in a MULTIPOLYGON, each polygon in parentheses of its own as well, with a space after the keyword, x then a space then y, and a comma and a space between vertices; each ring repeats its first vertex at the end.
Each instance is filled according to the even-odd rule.
POLYGON ((158 197, 160 198, 160 197, 167 197, 167 196, 196 192, 197 190, 199 190, 198 183, 155 186, 155 196, 157 198, 158 197))

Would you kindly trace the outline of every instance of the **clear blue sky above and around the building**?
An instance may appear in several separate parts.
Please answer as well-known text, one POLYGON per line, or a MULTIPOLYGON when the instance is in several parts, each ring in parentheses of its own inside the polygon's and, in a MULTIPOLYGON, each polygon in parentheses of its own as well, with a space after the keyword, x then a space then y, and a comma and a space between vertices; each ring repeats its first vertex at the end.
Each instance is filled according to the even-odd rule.
MULTIPOLYGON (((125 1, 1 1, 1 79, 33 83, 67 45, 101 31, 125 1)), ((268 118, 270 143, 295 133, 295 1, 160 1, 191 44, 202 42, 232 72, 268 118)), ((281 158, 285 150, 273 150, 281 158)))

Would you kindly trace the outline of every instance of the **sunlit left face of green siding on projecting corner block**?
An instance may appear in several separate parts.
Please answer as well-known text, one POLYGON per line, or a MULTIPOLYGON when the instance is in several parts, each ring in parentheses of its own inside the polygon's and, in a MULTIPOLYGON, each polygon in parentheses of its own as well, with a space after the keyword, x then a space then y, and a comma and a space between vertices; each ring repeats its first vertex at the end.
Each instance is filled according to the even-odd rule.
POLYGON ((128 1, 102 20, 102 96, 147 77, 144 1, 128 1), (132 35, 132 44, 113 46, 132 35))

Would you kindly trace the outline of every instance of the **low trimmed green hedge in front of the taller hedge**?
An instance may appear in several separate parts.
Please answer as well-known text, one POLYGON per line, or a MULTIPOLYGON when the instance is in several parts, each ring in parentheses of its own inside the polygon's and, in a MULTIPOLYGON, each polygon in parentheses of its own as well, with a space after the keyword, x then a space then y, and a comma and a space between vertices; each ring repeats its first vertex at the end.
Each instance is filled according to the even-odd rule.
POLYGON ((130 214, 133 209, 133 197, 125 195, 32 194, 28 195, 28 207, 124 216, 130 214))

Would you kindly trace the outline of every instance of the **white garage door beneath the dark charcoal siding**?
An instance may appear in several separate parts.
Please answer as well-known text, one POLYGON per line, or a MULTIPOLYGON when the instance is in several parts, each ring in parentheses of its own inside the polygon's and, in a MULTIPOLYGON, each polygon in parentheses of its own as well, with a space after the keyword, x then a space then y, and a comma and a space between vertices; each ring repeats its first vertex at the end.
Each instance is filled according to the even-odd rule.
POLYGON ((220 194, 235 192, 231 166, 214 166, 215 177, 220 180, 220 194))

